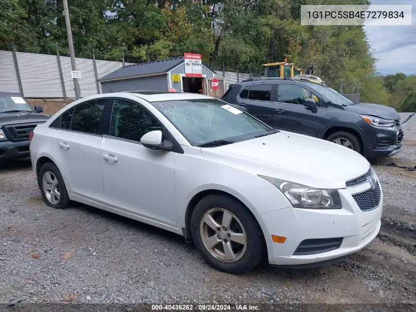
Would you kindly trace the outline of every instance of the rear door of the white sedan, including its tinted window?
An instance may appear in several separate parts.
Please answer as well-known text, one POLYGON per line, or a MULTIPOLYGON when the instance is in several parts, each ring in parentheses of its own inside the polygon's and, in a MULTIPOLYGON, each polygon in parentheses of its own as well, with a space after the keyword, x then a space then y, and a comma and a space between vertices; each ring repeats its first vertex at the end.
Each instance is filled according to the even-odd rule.
POLYGON ((100 147, 104 112, 108 100, 84 102, 61 115, 55 135, 57 161, 70 192, 88 199, 101 199, 100 147))

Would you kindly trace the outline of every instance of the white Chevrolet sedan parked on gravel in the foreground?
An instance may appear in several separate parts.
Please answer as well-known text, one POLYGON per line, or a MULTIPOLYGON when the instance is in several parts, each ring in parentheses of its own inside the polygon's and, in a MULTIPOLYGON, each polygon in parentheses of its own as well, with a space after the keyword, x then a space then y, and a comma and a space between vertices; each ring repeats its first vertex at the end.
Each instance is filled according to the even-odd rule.
POLYGON ((265 256, 279 266, 339 261, 380 230, 382 190, 365 158, 211 97, 92 96, 31 137, 48 206, 72 200, 183 235, 222 271, 265 256))

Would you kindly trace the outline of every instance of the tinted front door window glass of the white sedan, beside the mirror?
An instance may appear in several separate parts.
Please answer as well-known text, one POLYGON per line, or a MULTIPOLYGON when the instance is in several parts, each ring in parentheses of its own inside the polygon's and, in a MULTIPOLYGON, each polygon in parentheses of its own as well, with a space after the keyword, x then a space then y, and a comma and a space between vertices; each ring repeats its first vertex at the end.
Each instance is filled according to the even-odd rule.
POLYGON ((162 129, 160 122, 142 105, 121 99, 114 101, 110 136, 140 142, 146 133, 162 129))

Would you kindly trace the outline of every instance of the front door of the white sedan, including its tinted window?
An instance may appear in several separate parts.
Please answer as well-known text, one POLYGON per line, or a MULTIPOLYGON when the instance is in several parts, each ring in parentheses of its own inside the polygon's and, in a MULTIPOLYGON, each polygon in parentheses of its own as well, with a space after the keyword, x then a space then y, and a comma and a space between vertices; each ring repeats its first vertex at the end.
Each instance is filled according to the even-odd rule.
POLYGON ((115 208, 176 226, 175 153, 140 144, 144 134, 162 129, 141 104, 114 100, 101 144, 104 198, 115 208))

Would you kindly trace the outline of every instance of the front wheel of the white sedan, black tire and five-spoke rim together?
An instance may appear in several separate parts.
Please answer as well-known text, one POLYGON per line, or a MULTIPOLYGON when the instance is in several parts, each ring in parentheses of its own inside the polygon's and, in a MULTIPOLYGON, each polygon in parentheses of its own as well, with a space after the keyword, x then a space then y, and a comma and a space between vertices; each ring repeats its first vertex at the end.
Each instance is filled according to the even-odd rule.
POLYGON ((193 210, 191 233, 202 257, 220 271, 250 271, 264 255, 264 238, 256 218, 228 196, 203 198, 193 210))

